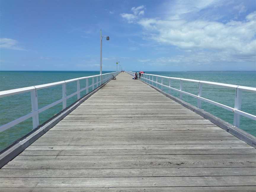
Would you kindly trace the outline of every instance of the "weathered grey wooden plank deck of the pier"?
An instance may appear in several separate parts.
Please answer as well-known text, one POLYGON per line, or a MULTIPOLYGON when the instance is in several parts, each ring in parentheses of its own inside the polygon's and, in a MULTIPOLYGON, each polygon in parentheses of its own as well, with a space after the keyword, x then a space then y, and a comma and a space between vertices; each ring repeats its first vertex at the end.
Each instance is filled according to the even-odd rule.
POLYGON ((120 73, 6 164, 0 191, 256 191, 256 149, 120 73))

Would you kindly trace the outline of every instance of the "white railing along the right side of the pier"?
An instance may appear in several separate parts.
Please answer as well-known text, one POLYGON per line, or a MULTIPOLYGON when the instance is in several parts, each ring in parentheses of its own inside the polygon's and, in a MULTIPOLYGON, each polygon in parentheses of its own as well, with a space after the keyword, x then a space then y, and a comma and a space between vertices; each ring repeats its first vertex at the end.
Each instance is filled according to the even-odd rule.
MULTIPOLYGON (((126 71, 126 72, 129 73, 130 75, 133 75, 135 73, 135 72, 132 72, 132 71, 126 71)), ((239 127, 239 125, 240 125, 240 116, 244 116, 244 117, 247 117, 249 119, 256 120, 255 115, 252 115, 252 114, 246 113, 244 111, 241 111, 242 91, 256 92, 255 87, 245 87, 245 86, 238 86, 238 85, 232 85, 232 84, 216 83, 216 82, 211 82, 211 81, 199 81, 199 80, 194 80, 194 79, 166 77, 166 76, 153 75, 153 74, 147 74, 147 73, 143 73, 143 77, 141 77, 140 79, 142 79, 143 81, 145 81, 147 83, 151 82, 152 85, 153 85, 153 83, 161 85, 161 89, 163 89, 163 87, 166 87, 169 90, 177 91, 177 92, 180 93, 180 99, 182 99, 183 94, 194 97, 194 98, 197 99, 197 107, 198 108, 201 108, 201 101, 205 101, 207 103, 211 103, 211 104, 216 105, 218 107, 224 108, 228 111, 232 111, 234 113, 233 125, 235 125, 236 127, 239 127), (153 81, 153 77, 156 77, 156 81, 153 81), (161 80, 161 83, 158 82, 159 79, 161 80), (169 86, 163 84, 164 79, 167 79, 169 81, 169 86), (180 89, 175 89, 171 86, 171 80, 172 79, 180 81, 180 89), (182 84, 183 81, 198 83, 199 84, 198 95, 194 95, 192 93, 188 93, 188 92, 183 91, 182 90, 183 89, 183 84, 182 84), (215 86, 220 86, 220 87, 229 87, 229 88, 236 89, 234 107, 229 107, 227 105, 223 105, 221 103, 217 103, 215 101, 212 101, 212 100, 209 100, 209 99, 206 99, 206 98, 202 97, 202 88, 203 88, 204 84, 215 85, 215 86)))

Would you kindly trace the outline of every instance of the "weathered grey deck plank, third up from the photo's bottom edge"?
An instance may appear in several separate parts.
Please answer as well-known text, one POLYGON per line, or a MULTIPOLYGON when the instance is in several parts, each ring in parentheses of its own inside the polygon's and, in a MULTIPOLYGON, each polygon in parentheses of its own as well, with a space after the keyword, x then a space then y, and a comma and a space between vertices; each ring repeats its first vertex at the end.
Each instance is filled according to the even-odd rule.
POLYGON ((1 169, 0 177, 256 176, 256 167, 148 169, 1 169))

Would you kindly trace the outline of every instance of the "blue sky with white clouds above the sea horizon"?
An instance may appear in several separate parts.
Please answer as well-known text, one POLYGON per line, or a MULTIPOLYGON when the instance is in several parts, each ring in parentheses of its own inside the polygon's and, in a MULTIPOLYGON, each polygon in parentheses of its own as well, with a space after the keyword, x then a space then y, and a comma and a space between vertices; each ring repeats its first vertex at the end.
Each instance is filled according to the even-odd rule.
POLYGON ((256 70, 254 0, 0 1, 0 70, 256 70))

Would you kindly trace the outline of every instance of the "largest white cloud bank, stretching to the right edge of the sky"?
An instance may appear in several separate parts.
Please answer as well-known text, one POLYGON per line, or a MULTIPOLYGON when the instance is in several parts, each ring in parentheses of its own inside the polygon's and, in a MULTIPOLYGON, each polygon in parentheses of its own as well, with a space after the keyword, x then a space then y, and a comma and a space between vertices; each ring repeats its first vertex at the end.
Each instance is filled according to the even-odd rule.
POLYGON ((231 21, 223 24, 196 20, 155 20, 138 21, 151 33, 150 39, 159 43, 175 45, 180 48, 201 48, 225 50, 239 54, 255 54, 254 15, 248 15, 244 22, 231 21))

